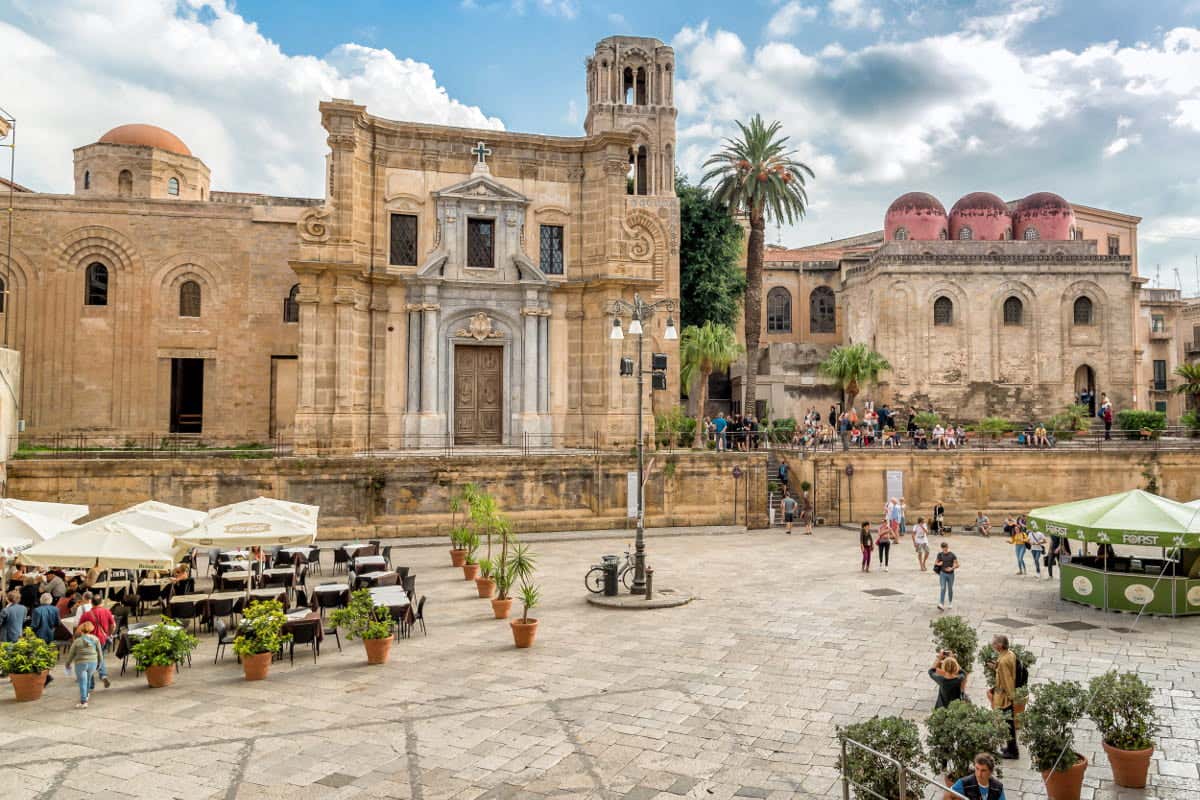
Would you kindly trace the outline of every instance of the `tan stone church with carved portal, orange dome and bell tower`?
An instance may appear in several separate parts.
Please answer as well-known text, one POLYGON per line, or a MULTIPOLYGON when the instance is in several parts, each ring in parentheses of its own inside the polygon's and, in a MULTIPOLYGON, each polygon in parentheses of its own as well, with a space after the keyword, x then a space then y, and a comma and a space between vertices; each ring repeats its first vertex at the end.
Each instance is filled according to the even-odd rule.
MULTIPOLYGON (((76 192, 20 192, 8 345, 32 439, 284 437, 296 452, 629 441, 635 337, 613 303, 678 299, 674 55, 602 40, 584 136, 320 104, 324 198, 214 192, 169 132, 76 150, 76 192)), ((666 315, 647 353, 678 347, 666 315)))

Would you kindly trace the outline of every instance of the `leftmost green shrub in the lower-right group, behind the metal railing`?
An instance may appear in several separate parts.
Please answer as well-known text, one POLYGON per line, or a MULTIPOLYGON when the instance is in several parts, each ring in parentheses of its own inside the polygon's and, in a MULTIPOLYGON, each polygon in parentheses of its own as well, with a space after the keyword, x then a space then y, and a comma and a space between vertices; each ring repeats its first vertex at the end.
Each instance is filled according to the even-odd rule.
POLYGON ((840 765, 841 774, 854 784, 859 798, 900 800, 900 776, 889 762, 848 744, 847 739, 901 764, 916 764, 924 758, 917 723, 901 717, 871 717, 866 722, 838 728, 838 739, 846 754, 840 765))

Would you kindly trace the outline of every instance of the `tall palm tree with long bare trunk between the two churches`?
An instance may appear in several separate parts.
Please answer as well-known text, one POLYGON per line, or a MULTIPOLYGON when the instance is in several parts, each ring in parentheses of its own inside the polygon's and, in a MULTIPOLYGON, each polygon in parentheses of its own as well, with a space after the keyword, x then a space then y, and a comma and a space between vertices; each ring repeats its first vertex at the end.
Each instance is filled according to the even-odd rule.
POLYGON ((767 125, 755 114, 749 124, 738 122, 739 139, 726 139, 725 148, 704 162, 703 186, 716 181, 713 199, 734 213, 750 218, 750 242, 746 246, 745 342, 746 371, 742 408, 754 414, 757 399, 758 337, 762 332, 762 257, 767 222, 788 224, 804 217, 809 196, 806 164, 792 158, 787 137, 779 136, 779 121, 767 125))

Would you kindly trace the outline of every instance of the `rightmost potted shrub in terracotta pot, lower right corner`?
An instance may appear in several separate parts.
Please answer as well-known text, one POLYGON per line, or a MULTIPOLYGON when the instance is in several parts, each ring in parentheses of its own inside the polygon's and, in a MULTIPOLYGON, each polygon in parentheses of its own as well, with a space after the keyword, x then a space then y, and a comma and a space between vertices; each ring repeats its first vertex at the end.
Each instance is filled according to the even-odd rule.
POLYGON ((1136 673, 1118 674, 1114 669, 1093 678, 1088 694, 1087 716, 1100 732, 1112 780, 1132 789, 1145 787, 1158 733, 1158 714, 1150 700, 1150 686, 1136 673))

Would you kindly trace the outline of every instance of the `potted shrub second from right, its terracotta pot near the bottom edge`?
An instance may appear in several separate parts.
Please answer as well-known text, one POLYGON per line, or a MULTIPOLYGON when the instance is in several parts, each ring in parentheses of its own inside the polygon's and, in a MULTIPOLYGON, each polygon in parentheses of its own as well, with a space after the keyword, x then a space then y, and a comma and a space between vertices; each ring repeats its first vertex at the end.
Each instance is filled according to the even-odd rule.
POLYGON ((1078 681, 1051 681, 1038 684, 1025 710, 1021 735, 1050 800, 1079 800, 1087 759, 1075 752, 1074 727, 1086 704, 1087 693, 1078 681))

